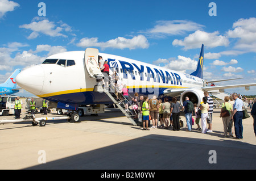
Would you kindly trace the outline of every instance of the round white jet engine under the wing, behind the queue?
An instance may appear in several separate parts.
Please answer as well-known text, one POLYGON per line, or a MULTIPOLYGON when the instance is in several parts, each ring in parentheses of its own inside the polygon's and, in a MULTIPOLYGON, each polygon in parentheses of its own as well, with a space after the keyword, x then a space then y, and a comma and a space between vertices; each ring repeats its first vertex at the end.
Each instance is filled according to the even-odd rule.
POLYGON ((180 95, 180 104, 183 105, 183 102, 185 101, 185 97, 188 97, 189 100, 191 100, 192 103, 196 103, 197 106, 200 106, 201 102, 203 101, 204 97, 204 91, 199 89, 189 89, 184 91, 180 95))

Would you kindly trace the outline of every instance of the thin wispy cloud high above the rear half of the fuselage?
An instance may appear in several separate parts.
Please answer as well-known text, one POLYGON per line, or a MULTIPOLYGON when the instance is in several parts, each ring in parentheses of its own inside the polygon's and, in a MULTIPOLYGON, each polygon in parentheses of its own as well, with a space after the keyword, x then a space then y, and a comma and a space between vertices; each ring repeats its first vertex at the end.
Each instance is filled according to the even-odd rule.
POLYGON ((181 35, 188 31, 200 30, 202 27, 204 26, 189 20, 159 20, 154 28, 141 33, 154 37, 164 37, 167 35, 181 35))

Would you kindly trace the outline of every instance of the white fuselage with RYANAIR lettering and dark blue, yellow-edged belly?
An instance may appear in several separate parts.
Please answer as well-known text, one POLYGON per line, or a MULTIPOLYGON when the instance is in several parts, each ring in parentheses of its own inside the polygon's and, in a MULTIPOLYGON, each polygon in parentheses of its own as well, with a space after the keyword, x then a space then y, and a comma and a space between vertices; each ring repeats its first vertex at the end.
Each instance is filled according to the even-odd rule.
MULTIPOLYGON (((188 89, 204 86, 203 79, 129 58, 99 53, 113 70, 118 72, 130 95, 164 95, 166 89, 188 89)), ((20 87, 32 94, 53 102, 106 104, 111 100, 106 94, 94 92, 96 78, 89 77, 85 68, 84 51, 64 52, 49 56, 46 60, 57 60, 55 64, 40 64, 23 70, 16 77, 20 87), (66 65, 61 65, 63 60, 66 65), (75 65, 68 66, 69 60, 75 65)), ((53 61, 54 62, 54 61, 53 61)), ((201 93, 201 92, 200 92, 201 93)), ((201 101, 201 100, 200 100, 201 101)))

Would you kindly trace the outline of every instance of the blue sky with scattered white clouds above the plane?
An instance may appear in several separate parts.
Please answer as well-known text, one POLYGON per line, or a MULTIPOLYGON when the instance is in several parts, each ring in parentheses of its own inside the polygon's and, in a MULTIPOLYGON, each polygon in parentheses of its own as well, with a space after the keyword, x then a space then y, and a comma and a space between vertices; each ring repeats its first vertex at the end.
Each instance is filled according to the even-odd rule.
MULTIPOLYGON (((255 83, 255 7, 254 0, 0 0, 0 82, 16 68, 87 47, 190 74, 204 43, 205 79, 244 78, 216 85, 255 83), (40 2, 46 16, 38 14, 40 2), (209 15, 210 2, 216 16, 209 15)), ((255 87, 226 91, 256 94, 255 87)))

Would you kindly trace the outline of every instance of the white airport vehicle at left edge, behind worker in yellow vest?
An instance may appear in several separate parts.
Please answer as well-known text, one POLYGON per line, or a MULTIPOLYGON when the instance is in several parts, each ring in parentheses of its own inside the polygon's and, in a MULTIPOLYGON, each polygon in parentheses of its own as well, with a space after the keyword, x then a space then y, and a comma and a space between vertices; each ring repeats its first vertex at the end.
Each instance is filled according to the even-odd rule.
POLYGON ((0 115, 8 116, 14 114, 16 96, 0 96, 0 115))

